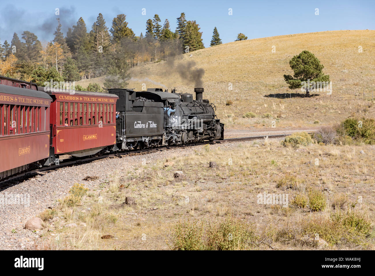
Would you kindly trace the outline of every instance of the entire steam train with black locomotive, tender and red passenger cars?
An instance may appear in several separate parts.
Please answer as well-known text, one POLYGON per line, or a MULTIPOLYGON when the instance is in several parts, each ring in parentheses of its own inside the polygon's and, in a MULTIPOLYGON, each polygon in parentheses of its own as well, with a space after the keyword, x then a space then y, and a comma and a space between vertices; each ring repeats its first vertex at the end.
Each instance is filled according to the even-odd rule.
POLYGON ((0 76, 0 180, 30 167, 58 165, 61 155, 223 139, 224 125, 203 92, 195 88, 195 100, 160 88, 71 92, 0 76))

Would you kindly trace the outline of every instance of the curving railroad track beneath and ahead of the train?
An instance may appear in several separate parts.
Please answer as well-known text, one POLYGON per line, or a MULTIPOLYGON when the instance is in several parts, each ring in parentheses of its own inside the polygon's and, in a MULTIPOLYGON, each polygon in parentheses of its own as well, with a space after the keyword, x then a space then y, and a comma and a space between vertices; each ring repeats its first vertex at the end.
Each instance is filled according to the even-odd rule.
POLYGON ((114 157, 122 158, 124 156, 145 155, 145 154, 150 154, 150 153, 153 153, 153 152, 165 151, 165 150, 174 149, 174 148, 186 148, 186 147, 206 145, 206 144, 212 145, 212 144, 217 144, 217 143, 221 144, 221 143, 228 143, 228 142, 258 140, 258 139, 264 139, 266 137, 268 137, 268 138, 279 138, 279 137, 284 137, 284 136, 288 136, 288 135, 290 135, 290 134, 230 138, 230 139, 223 139, 223 140, 204 141, 204 142, 192 143, 192 144, 161 146, 160 148, 132 150, 132 151, 127 151, 127 152, 103 154, 101 156, 94 156, 94 157, 87 157, 87 158, 68 158, 68 159, 65 159, 66 161, 63 160, 60 163, 60 165, 53 165, 53 166, 42 167, 42 168, 34 169, 34 170, 28 170, 27 172, 23 172, 23 173, 20 173, 20 174, 17 174, 17 175, 10 176, 9 178, 7 178, 5 180, 0 181, 0 191, 2 190, 1 188, 4 188, 6 186, 14 185, 14 183, 12 181, 17 181, 18 179, 22 179, 22 178, 27 179, 28 176, 31 176, 33 174, 37 174, 38 172, 51 171, 51 170, 59 169, 59 168, 62 168, 62 167, 67 167, 67 166, 71 166, 71 165, 75 165, 75 164, 88 163, 88 162, 103 159, 103 158, 114 158, 114 157))

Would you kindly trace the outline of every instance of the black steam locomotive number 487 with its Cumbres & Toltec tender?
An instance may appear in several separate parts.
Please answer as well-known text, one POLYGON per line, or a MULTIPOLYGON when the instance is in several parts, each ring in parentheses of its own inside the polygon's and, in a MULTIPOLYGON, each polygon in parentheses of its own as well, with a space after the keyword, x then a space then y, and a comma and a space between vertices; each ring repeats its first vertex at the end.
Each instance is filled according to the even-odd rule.
POLYGON ((189 93, 110 89, 117 95, 116 142, 119 150, 180 145, 223 139, 224 124, 215 115, 216 107, 203 100, 203 88, 189 93), (168 115, 168 107, 174 112, 168 115))

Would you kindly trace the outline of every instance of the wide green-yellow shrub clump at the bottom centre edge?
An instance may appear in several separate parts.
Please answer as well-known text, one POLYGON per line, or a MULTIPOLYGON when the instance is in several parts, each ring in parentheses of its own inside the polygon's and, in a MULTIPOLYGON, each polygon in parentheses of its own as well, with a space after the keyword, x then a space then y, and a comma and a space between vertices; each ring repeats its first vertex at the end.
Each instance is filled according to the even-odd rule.
POLYGON ((227 216, 219 223, 183 222, 172 233, 174 250, 243 250, 254 247, 258 237, 250 226, 227 216))

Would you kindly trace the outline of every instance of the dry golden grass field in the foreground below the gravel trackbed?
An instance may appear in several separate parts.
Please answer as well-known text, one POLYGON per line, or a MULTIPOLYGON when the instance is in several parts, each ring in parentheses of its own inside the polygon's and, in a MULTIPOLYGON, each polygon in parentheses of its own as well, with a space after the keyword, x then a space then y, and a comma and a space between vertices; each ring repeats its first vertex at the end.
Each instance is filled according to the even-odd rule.
MULTIPOLYGON (((87 193, 82 205, 60 211, 67 222, 56 222, 53 231, 45 229, 39 243, 51 249, 170 249, 178 222, 222 222, 229 215, 251 223, 255 235, 267 241, 257 244, 261 249, 312 248, 301 239, 314 231, 327 237, 329 249, 375 249, 374 232, 365 239, 336 243, 336 226, 329 223, 335 212, 352 210, 373 229, 373 146, 311 144, 296 151, 277 140, 259 140, 258 148, 253 143, 197 146, 187 157, 170 151, 169 166, 159 160, 110 175, 108 183, 87 193), (359 153, 362 149, 365 154, 359 153), (208 161, 217 167, 209 168, 208 161), (181 167, 186 178, 174 179, 173 172, 181 167), (282 179, 298 185, 280 185, 282 179), (298 197, 308 198, 311 190, 323 193, 324 210, 311 211, 312 202, 298 203, 298 197), (258 204, 257 195, 264 192, 287 193, 288 207, 258 204), (121 204, 129 196, 136 205, 121 204), (63 227, 66 223, 78 226, 63 227), (113 238, 101 239, 102 235, 113 238)), ((339 230, 340 235, 350 234, 339 230)))

